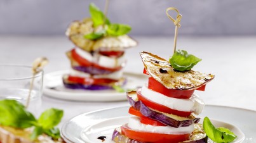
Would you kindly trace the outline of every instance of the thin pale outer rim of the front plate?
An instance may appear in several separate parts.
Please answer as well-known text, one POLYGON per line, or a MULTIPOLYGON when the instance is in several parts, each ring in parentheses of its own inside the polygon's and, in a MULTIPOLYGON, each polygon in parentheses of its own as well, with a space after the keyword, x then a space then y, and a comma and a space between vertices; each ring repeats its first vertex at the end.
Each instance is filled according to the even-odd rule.
MULTIPOLYGON (((208 107, 212 107, 212 108, 232 108, 232 109, 239 109, 239 110, 243 110, 243 111, 248 111, 248 112, 252 112, 253 114, 256 115, 256 111, 255 110, 252 110, 252 109, 245 109, 245 108, 237 108, 237 107, 230 107, 230 106, 219 106, 219 105, 212 105, 212 104, 206 104, 206 106, 208 107)), ((90 112, 86 112, 86 113, 82 113, 80 115, 77 115, 77 116, 74 116, 73 118, 71 118, 70 120, 66 121, 64 123, 64 125, 62 125, 62 128, 61 128, 61 135, 62 135, 62 138, 67 141, 67 142, 73 142, 72 140, 68 139, 67 137, 65 137, 65 128, 67 128, 67 126, 69 125, 69 122, 71 122, 72 120, 75 120, 76 118, 79 118, 79 116, 86 116, 86 115, 90 115, 90 114, 93 114, 93 113, 97 113, 97 112, 100 112, 100 111, 104 111, 104 110, 110 110, 110 109, 115 109, 115 108, 125 108, 125 107, 129 107, 129 106, 115 106, 115 107, 112 107, 112 108, 104 108, 104 109, 98 109, 98 110, 95 110, 95 111, 90 111, 90 112)), ((214 120, 219 120, 219 119, 214 119, 214 120)), ((221 121, 221 120, 219 120, 221 121)), ((223 121, 222 121, 223 122, 223 121)), ((230 124, 230 123, 229 123, 230 124)), ((231 124, 233 125, 233 124, 231 124)), ((233 125, 234 127, 238 128, 236 125, 233 125)), ((241 128, 238 128, 239 130, 241 130, 241 128)), ((244 133, 243 133, 244 134, 244 133)))

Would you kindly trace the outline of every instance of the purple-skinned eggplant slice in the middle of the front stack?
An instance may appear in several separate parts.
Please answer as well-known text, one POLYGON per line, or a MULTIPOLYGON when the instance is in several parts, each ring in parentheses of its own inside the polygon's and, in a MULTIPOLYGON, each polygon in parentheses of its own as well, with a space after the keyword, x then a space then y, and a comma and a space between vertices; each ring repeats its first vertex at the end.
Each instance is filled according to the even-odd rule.
POLYGON ((143 104, 142 101, 133 100, 133 98, 130 96, 130 94, 134 95, 134 94, 136 94, 136 92, 135 91, 127 92, 128 102, 130 103, 131 106, 133 106, 133 108, 140 111, 140 113, 142 113, 142 115, 152 118, 154 120, 160 121, 161 123, 164 123, 165 125, 168 125, 170 127, 175 127, 175 128, 188 127, 189 125, 192 125, 193 123, 198 123, 200 120, 200 118, 194 118, 194 119, 183 120, 183 121, 175 120, 166 115, 163 115, 162 113, 153 111, 152 109, 145 106, 145 104, 143 104))

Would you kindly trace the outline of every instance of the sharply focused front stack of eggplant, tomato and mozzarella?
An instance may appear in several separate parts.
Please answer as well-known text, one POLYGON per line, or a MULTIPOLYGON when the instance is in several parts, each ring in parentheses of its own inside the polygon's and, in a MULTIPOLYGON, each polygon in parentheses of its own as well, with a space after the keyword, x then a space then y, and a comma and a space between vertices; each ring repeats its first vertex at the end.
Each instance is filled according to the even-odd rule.
POLYGON ((175 71, 168 61, 140 53, 149 81, 137 91, 128 92, 131 104, 129 122, 114 130, 118 143, 206 142, 199 115, 205 106, 194 90, 205 90, 213 75, 198 71, 175 71))

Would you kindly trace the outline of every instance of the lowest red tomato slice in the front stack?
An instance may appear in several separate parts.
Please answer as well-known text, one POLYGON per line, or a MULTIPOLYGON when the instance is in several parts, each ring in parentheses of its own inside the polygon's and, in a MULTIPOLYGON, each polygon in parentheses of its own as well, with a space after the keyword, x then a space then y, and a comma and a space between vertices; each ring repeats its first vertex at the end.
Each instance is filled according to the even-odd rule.
POLYGON ((126 137, 138 140, 140 142, 154 142, 154 143, 177 143, 189 139, 190 134, 160 134, 155 132, 144 132, 138 130, 132 130, 127 124, 121 126, 121 132, 126 137))

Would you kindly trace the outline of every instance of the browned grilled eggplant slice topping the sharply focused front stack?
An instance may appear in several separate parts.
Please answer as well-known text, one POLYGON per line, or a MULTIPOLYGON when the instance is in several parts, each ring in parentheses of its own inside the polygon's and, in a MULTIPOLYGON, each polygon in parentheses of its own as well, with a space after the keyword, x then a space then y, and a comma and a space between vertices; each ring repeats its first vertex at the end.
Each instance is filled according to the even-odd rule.
POLYGON ((193 90, 198 89, 214 78, 212 74, 198 71, 175 71, 169 61, 148 52, 141 52, 140 56, 147 73, 167 89, 193 90))

